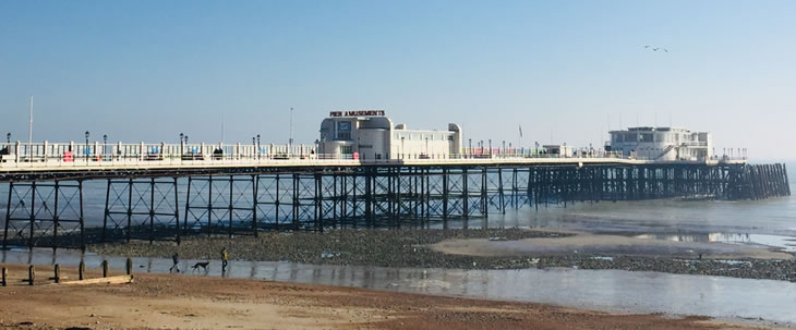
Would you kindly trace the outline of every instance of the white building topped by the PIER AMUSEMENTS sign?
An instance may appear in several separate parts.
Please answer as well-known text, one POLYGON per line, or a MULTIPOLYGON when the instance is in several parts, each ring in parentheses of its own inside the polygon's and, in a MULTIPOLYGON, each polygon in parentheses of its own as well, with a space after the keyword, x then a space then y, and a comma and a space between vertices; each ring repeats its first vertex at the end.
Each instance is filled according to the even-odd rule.
POLYGON ((408 130, 393 124, 384 110, 331 111, 321 123, 322 157, 374 159, 445 159, 461 152, 461 127, 408 130))

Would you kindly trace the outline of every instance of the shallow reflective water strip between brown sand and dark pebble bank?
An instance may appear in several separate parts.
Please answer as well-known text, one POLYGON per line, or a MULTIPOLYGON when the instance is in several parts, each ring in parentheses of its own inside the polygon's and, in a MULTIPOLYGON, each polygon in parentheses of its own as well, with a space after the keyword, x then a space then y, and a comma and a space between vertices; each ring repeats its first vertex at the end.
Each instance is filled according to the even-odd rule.
MULTIPOLYGON (((74 267, 85 260, 87 267, 98 268, 104 259, 117 271, 124 268, 124 258, 81 256, 70 250, 7 250, 0 261, 51 265, 55 260, 74 267)), ((181 268, 188 269, 196 261, 182 260, 181 268)), ((221 276, 220 261, 210 262, 203 276, 221 276)), ((160 273, 171 267, 171 260, 161 258, 134 258, 133 264, 136 270, 160 273)), ((234 260, 230 266, 226 273, 230 278, 536 302, 606 311, 763 318, 796 325, 796 283, 785 281, 622 270, 458 270, 234 260)))

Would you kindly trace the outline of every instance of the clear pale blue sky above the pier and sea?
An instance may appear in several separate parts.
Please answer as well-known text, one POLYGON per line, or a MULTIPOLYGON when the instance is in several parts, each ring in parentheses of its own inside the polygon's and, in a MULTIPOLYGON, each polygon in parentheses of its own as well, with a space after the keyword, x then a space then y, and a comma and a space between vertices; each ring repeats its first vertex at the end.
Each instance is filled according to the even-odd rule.
POLYGON ((473 140, 714 133, 795 159, 796 1, 0 1, 0 131, 26 139, 317 137, 385 109, 473 140), (667 48, 652 52, 644 45, 667 48))

